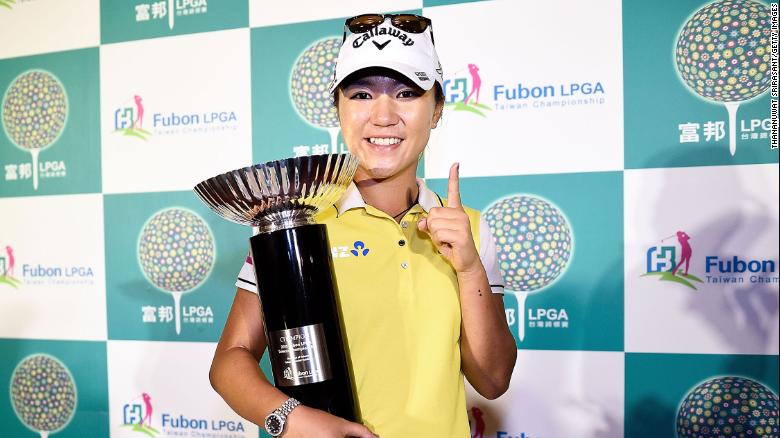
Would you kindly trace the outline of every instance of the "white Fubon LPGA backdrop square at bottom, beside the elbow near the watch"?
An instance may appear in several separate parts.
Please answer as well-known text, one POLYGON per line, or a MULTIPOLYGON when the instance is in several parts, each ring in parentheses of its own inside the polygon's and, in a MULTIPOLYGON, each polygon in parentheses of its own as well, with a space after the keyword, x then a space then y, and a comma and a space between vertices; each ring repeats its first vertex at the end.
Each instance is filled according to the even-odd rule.
POLYGON ((215 347, 108 341, 111 437, 137 438, 151 433, 151 426, 163 437, 256 438, 257 426, 233 412, 209 384, 215 347))

